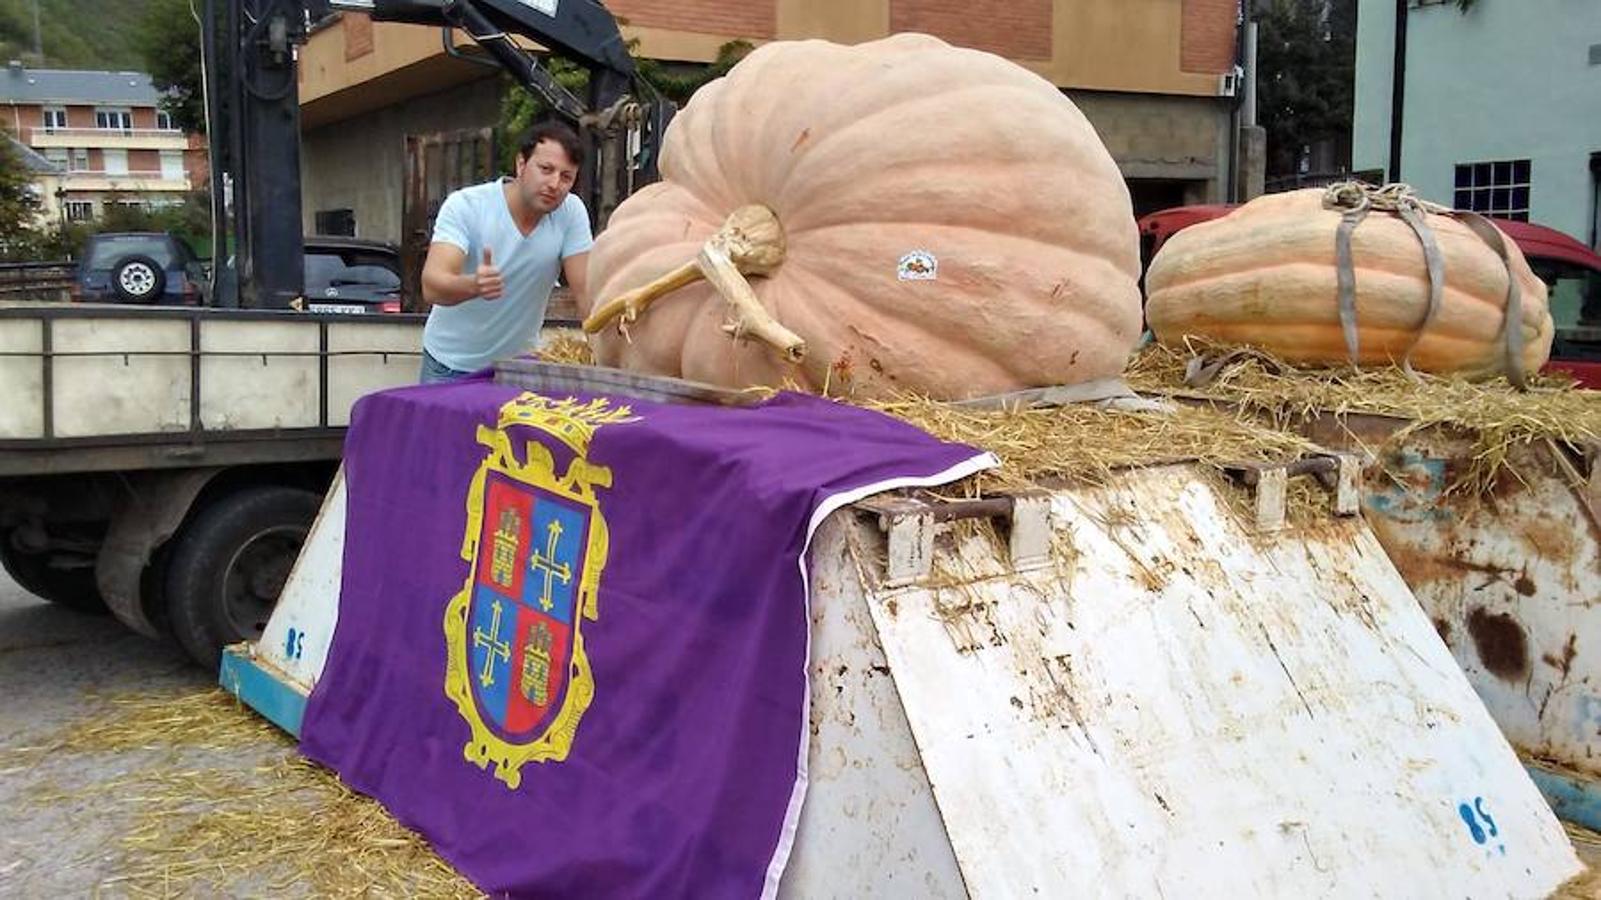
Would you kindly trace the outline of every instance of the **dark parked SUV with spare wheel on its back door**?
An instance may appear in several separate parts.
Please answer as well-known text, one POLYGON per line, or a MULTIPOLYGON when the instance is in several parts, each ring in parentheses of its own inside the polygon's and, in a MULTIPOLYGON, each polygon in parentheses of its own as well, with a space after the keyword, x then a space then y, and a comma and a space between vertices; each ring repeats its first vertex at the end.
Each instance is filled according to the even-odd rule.
POLYGON ((83 303, 200 306, 203 285, 200 259, 181 237, 102 232, 83 245, 72 296, 83 303))

